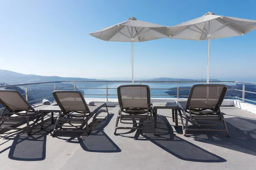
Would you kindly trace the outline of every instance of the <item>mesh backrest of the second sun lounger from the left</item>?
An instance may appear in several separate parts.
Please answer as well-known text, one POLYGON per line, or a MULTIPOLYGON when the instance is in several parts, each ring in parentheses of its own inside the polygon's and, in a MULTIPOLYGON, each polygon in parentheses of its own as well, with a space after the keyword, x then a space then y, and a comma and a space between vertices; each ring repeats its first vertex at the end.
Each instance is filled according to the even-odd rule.
POLYGON ((90 110, 80 91, 54 91, 52 95, 62 111, 82 111, 90 110))

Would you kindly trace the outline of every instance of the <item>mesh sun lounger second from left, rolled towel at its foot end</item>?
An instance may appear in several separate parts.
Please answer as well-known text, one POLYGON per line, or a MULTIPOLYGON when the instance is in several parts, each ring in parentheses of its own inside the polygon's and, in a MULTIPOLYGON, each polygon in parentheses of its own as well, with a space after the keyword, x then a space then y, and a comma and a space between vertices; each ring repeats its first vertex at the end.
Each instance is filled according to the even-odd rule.
POLYGON ((108 113, 106 103, 95 103, 95 106, 88 106, 80 91, 54 91, 52 95, 61 108, 52 136, 56 131, 87 132, 89 135, 96 116, 101 112, 108 113), (102 110, 102 107, 106 107, 106 110, 102 110), (89 128, 88 121, 92 117, 92 124, 89 128), (60 129, 57 129, 58 127, 60 129))

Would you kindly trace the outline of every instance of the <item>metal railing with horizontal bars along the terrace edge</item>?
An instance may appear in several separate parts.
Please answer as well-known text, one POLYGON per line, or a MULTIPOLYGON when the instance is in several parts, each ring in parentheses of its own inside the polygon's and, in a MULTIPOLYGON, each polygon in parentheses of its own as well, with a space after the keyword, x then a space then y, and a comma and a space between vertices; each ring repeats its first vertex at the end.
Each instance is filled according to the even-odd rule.
MULTIPOLYGON (((105 89, 106 90, 106 94, 83 94, 83 95, 90 95, 90 96, 106 96, 106 99, 108 101, 109 99, 109 96, 117 96, 117 94, 109 94, 109 90, 113 90, 113 89, 116 89, 116 88, 109 88, 109 84, 110 83, 131 83, 131 81, 58 81, 58 82, 37 82, 37 83, 26 83, 26 84, 16 84, 16 85, 2 85, 0 86, 0 88, 8 88, 8 87, 15 87, 15 86, 18 86, 18 87, 25 87, 25 93, 22 94, 22 95, 25 95, 25 98, 26 98, 26 101, 28 101, 28 96, 29 94, 35 94, 35 93, 41 93, 41 92, 45 92, 45 91, 55 91, 55 90, 59 90, 59 89, 72 89, 71 87, 70 88, 67 88, 67 87, 61 87, 61 88, 56 88, 56 83, 73 83, 73 90, 76 91, 77 89, 105 89), (28 86, 31 86, 31 85, 41 85, 41 84, 49 84, 49 83, 52 83, 54 84, 54 87, 51 88, 51 89, 47 89, 47 90, 43 90, 43 91, 33 91, 33 92, 28 92, 28 86), (76 85, 76 83, 106 83, 106 87, 104 88, 99 88, 99 87, 78 87, 76 85)), ((163 95, 163 94, 151 94, 151 96, 173 96, 173 97, 177 97, 177 99, 179 99, 180 97, 187 97, 186 95, 180 95, 179 94, 179 91, 180 90, 190 90, 190 88, 180 88, 180 83, 196 83, 196 84, 199 84, 199 83, 206 83, 205 81, 134 81, 134 83, 176 83, 177 84, 177 88, 172 88, 173 90, 176 90, 177 91, 177 94, 176 95, 163 95)), ((255 92, 251 92, 251 91, 245 91, 245 85, 256 85, 256 83, 254 82, 236 82, 236 81, 211 81, 210 83, 221 83, 221 84, 224 84, 224 83, 239 83, 239 84, 243 84, 242 85, 242 90, 239 90, 239 89, 228 89, 228 90, 233 90, 233 91, 241 91, 242 92, 242 98, 240 97, 237 97, 237 96, 228 96, 230 98, 236 98, 236 99, 241 99, 242 102, 244 101, 249 101, 249 102, 254 102, 256 103, 256 101, 253 101, 253 100, 249 100, 249 99, 245 99, 245 93, 251 93, 251 94, 256 94, 255 92)), ((150 88, 151 90, 169 90, 171 88, 150 88)), ((42 99, 47 99, 47 98, 51 98, 52 96, 46 96, 42 99)), ((28 101, 29 103, 30 102, 37 102, 37 101, 40 101, 42 99, 35 99, 35 100, 32 100, 32 101, 28 101)))

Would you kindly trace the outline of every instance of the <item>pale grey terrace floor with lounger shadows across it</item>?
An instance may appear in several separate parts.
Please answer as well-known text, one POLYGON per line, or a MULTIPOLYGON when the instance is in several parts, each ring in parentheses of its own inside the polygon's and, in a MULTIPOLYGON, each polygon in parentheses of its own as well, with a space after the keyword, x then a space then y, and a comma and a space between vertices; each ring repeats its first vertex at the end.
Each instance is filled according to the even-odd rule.
MULTIPOLYGON (((1 170, 255 170, 256 114, 223 107, 230 138, 223 132, 174 127, 170 110, 159 110, 157 134, 120 130, 113 134, 118 107, 99 115, 93 132, 56 133, 50 121, 26 133, 0 134, 1 170)), ((180 119, 179 119, 180 121, 180 119)))

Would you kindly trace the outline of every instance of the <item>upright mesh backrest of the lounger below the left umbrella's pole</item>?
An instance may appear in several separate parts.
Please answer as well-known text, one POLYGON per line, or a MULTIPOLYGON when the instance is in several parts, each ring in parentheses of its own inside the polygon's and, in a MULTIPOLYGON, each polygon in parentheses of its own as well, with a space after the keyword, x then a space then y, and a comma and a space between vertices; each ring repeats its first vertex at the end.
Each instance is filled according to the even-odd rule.
POLYGON ((123 108, 150 108, 148 85, 120 85, 117 88, 119 105, 123 108))

